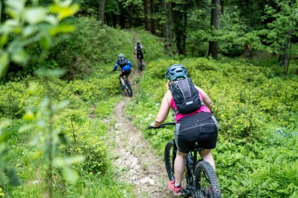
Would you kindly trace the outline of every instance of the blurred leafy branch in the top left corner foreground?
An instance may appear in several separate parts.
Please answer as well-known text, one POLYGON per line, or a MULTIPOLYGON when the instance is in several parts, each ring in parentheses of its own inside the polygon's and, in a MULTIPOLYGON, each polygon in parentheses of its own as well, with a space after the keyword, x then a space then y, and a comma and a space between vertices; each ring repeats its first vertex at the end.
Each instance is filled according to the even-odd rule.
POLYGON ((0 77, 8 69, 10 61, 26 65, 28 61, 42 61, 51 47, 52 38, 74 30, 74 26, 62 23, 79 8, 70 1, 55 0, 48 7, 33 1, 26 6, 27 0, 5 0, 6 13, 9 16, 0 24, 0 77), (32 50, 38 48, 36 54, 32 50))

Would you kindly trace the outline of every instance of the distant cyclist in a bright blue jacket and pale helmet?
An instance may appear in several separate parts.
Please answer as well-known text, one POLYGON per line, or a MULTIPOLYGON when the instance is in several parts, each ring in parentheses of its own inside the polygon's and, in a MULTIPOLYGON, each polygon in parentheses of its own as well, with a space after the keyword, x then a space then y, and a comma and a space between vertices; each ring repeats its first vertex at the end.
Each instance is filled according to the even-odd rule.
POLYGON ((120 53, 118 55, 118 60, 114 65, 114 68, 113 68, 114 71, 116 71, 118 65, 121 67, 119 78, 122 83, 122 89, 127 89, 127 87, 125 87, 123 76, 125 75, 126 79, 128 80, 128 75, 131 73, 131 67, 133 66, 133 64, 124 57, 123 53, 120 53))

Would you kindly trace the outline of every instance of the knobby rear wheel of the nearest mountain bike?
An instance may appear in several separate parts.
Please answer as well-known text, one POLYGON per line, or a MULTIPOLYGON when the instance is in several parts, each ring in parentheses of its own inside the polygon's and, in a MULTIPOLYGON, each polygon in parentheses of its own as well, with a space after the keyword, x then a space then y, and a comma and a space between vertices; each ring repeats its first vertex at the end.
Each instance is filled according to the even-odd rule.
POLYGON ((202 192, 203 198, 222 198, 220 184, 215 171, 207 161, 200 161, 195 168, 196 189, 202 192))

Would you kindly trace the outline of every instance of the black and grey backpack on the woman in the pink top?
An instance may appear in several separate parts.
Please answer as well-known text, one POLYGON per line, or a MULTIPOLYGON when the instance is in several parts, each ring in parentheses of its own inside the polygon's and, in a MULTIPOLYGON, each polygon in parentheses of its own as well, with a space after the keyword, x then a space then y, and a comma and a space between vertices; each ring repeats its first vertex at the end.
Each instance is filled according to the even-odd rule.
POLYGON ((191 113, 204 104, 199 97, 199 91, 190 78, 173 81, 170 91, 178 109, 177 113, 191 113))

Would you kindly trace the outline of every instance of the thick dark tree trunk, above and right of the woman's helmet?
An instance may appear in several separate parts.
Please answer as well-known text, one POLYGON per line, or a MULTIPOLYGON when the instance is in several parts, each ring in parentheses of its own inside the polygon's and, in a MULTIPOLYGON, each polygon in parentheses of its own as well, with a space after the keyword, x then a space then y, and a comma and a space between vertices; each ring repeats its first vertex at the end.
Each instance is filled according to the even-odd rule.
MULTIPOLYGON (((212 0, 211 6, 212 6, 212 9, 211 9, 211 26, 213 26, 215 30, 218 30, 219 25, 220 25, 221 0, 212 0)), ((211 55, 214 59, 217 59, 218 50, 219 50, 219 43, 217 41, 210 41, 209 42, 208 56, 211 55)))

